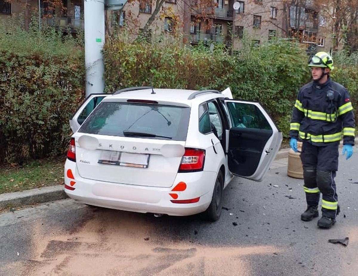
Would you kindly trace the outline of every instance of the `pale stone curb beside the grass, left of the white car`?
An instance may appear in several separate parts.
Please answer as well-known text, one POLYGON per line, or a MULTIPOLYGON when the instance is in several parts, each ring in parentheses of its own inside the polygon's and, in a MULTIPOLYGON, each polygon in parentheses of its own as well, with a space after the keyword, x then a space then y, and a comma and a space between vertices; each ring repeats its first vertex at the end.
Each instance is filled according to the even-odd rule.
POLYGON ((22 192, 0 194, 0 210, 67 198, 63 185, 35 188, 22 192))

